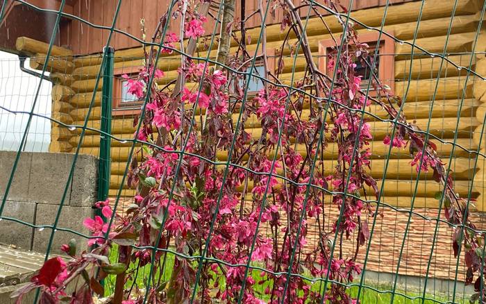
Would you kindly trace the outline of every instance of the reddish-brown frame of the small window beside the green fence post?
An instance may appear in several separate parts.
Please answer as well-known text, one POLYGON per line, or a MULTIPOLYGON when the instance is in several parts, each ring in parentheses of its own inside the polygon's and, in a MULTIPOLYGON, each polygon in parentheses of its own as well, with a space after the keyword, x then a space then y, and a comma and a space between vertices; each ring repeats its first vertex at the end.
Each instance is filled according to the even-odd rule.
POLYGON ((122 104, 121 94, 123 90, 124 78, 121 77, 123 74, 128 76, 133 74, 138 74, 142 69, 141 66, 133 67, 121 67, 118 69, 113 69, 113 103, 112 103, 112 116, 122 116, 122 115, 137 115, 140 113, 140 108, 144 104, 144 101, 133 101, 130 104, 122 104))

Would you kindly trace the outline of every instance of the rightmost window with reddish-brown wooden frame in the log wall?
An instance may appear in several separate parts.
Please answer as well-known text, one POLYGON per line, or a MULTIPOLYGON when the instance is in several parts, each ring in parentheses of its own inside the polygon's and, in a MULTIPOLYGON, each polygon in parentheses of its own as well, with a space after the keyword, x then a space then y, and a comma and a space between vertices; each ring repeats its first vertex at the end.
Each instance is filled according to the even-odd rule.
MULTIPOLYGON (((390 33, 392 35, 393 33, 390 33)), ((375 69, 376 69, 376 78, 382 83, 383 85, 387 85, 391 93, 394 92, 394 51, 395 51, 395 44, 394 40, 387 35, 381 35, 380 41, 378 41, 379 33, 369 33, 369 34, 361 34, 359 37, 359 41, 361 43, 366 43, 369 46, 369 56, 367 57, 366 62, 362 62, 362 60, 356 60, 355 64, 355 71, 358 76, 361 76, 361 87, 362 90, 366 90, 368 87, 368 83, 371 80, 371 69, 372 60, 376 57, 375 62, 375 69), (378 53, 374 56, 376 51, 376 45, 378 44, 378 53)), ((319 42, 319 70, 323 71, 324 73, 328 74, 329 76, 333 76, 333 69, 328 68, 328 60, 331 57, 331 52, 335 49, 336 44, 334 40, 322 40, 319 42)), ((374 91, 373 85, 369 86, 369 94, 371 96, 376 95, 374 91)))

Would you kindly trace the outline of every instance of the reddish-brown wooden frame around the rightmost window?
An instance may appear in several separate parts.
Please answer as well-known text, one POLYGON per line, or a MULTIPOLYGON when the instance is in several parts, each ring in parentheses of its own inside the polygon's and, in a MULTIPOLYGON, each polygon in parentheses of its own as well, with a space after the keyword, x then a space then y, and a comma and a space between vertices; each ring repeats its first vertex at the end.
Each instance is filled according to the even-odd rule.
MULTIPOLYGON (((393 32, 387 32, 389 35, 393 36, 393 32)), ((380 40, 378 41, 378 36, 380 33, 366 33, 359 36, 359 40, 362 43, 373 44, 370 49, 376 49, 376 44, 378 47, 378 79, 383 85, 388 85, 390 88, 390 94, 394 94, 395 89, 395 41, 393 38, 382 34, 380 40)), ((332 47, 336 47, 334 40, 321 40, 319 41, 319 70, 323 73, 333 76, 328 70, 328 52, 332 47)), ((369 96, 376 96, 376 90, 373 86, 369 87, 369 96)))

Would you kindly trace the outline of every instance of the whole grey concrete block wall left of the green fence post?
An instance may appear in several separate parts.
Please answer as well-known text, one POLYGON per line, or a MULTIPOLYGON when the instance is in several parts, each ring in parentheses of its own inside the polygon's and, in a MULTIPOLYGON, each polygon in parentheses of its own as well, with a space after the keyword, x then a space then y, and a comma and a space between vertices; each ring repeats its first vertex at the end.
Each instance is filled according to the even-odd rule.
MULTIPOLYGON (((16 152, 0 151, 0 199, 3 200, 16 152)), ((23 152, 19 159, 2 217, 10 217, 35 225, 53 225, 74 154, 23 152)), ((93 216, 92 205, 97 201, 98 160, 92 155, 78 155, 72 183, 67 187, 62 205, 59 228, 89 234, 83 219, 93 216)), ((0 201, 1 203, 1 201, 0 201)), ((9 221, 0 221, 0 243, 14 244, 23 249, 45 252, 51 228, 42 230, 9 221)), ((59 253, 59 246, 78 239, 78 248, 86 248, 86 241, 73 233, 58 230, 54 235, 51 253, 59 253)))

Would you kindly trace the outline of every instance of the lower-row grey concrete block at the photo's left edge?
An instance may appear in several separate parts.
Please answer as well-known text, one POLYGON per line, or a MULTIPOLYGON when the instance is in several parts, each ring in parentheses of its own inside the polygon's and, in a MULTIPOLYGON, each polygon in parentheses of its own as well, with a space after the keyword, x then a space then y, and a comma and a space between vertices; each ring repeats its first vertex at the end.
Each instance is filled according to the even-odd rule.
MULTIPOLYGON (((35 203, 6 201, 2 217, 19 219, 26 223, 34 223, 35 203)), ((31 237, 33 228, 22 223, 2 219, 0 221, 0 242, 3 244, 14 244, 15 246, 29 250, 31 248, 31 237)))

